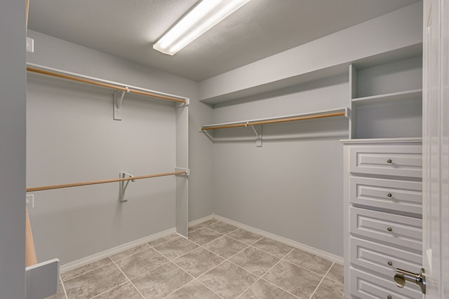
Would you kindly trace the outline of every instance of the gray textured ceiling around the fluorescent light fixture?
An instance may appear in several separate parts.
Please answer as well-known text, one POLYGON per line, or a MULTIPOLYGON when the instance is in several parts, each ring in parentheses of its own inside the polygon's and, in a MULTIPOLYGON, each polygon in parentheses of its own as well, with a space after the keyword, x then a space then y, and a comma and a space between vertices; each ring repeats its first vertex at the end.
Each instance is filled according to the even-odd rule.
POLYGON ((194 81, 419 0, 251 0, 174 56, 152 44, 197 0, 30 0, 29 29, 194 81))

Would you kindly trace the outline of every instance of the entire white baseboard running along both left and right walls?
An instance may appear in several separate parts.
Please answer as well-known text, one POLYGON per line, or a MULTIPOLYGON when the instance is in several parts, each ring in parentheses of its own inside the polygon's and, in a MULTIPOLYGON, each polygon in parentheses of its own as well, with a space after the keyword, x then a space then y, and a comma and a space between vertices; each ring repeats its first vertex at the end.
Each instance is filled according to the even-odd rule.
MULTIPOLYGON (((283 244, 287 244, 289 246, 295 247, 297 249, 301 249, 303 251, 307 251, 309 253, 313 253, 316 256, 321 256, 322 258, 326 258, 328 260, 331 260, 337 264, 343 265, 343 257, 342 256, 336 256, 335 254, 332 253, 328 253, 326 251, 320 250, 320 249, 316 249, 314 247, 302 244, 300 242, 296 242, 293 241, 292 239, 287 239, 285 237, 281 237, 279 235, 274 235, 271 232, 266 232, 264 230, 260 230, 258 228, 253 228, 250 225, 246 225, 243 223, 239 223, 237 221, 222 217, 222 216, 218 216, 215 214, 211 214, 209 216, 203 217, 203 218, 199 218, 196 219, 194 221, 190 221, 189 222, 189 227, 197 225, 199 223, 203 223, 205 221, 209 221, 212 219, 217 219, 218 221, 222 221, 225 223, 229 223, 232 224, 234 226, 236 226, 237 228, 241 228, 243 230, 248 230, 248 232, 254 232, 257 235, 261 235, 262 237, 267 237, 270 239, 274 239, 275 241, 281 242, 283 244)), ((176 232, 175 228, 170 228, 168 230, 163 230, 162 232, 157 232, 156 234, 153 235, 149 235, 147 237, 142 237, 140 239, 137 239, 135 241, 132 242, 128 242, 126 244, 122 244, 119 246, 116 246, 112 249, 107 249, 105 251, 101 251, 99 253, 95 253, 91 256, 86 256, 86 258, 81 258, 79 260, 74 260, 73 262, 67 263, 65 265, 61 265, 60 266, 60 273, 65 273, 67 271, 70 270, 74 270, 78 267, 82 267, 83 265, 88 265, 89 263, 93 263, 97 260, 101 260, 102 258, 107 258, 108 256, 112 256, 116 253, 120 253, 122 251, 126 251, 130 248, 133 248, 135 246, 139 246, 141 244, 145 244, 147 242, 153 241, 154 239, 159 239, 160 237, 165 237, 166 235, 171 235, 173 233, 176 232)))

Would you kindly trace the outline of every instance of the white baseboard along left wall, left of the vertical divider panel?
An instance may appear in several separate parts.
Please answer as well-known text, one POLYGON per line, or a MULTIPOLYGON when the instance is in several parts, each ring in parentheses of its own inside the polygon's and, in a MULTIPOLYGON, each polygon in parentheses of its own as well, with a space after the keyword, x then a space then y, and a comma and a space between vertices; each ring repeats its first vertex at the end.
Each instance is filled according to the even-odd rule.
POLYGON ((126 251, 130 248, 133 248, 135 246, 139 246, 142 244, 145 244, 147 242, 153 241, 155 239, 159 239, 161 237, 165 237, 167 235, 174 234, 176 232, 175 228, 170 228, 168 230, 163 230, 162 232, 156 232, 153 235, 149 235, 147 237, 142 237, 140 239, 137 239, 135 241, 131 241, 125 244, 121 244, 119 246, 113 247, 111 249, 107 249, 105 251, 101 251, 99 253, 95 253, 91 256, 86 256, 86 258, 81 258, 79 260, 74 260, 73 262, 67 263, 65 265, 61 265, 60 267, 60 273, 65 273, 70 270, 74 270, 78 267, 82 267, 84 265, 88 265, 90 263, 93 263, 97 260, 101 260, 102 258, 107 258, 109 256, 112 256, 116 253, 120 253, 122 251, 126 251))

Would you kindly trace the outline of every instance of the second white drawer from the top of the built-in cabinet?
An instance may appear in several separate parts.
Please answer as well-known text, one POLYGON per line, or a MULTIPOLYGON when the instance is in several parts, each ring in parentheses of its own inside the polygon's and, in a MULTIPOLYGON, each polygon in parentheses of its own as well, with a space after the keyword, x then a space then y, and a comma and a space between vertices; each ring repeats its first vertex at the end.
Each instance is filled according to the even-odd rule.
POLYGON ((422 215, 422 183, 349 177, 349 201, 422 215))

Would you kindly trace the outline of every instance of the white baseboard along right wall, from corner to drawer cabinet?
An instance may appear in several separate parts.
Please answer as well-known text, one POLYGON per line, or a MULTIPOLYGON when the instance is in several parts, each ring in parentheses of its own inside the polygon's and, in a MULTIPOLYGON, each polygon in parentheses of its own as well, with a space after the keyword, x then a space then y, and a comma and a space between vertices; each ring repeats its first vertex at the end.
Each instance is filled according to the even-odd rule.
POLYGON ((335 255, 333 253, 328 253, 328 252, 323 251, 321 249, 316 249, 316 248, 314 248, 312 246, 308 246, 306 244, 302 244, 300 242, 296 242, 293 239, 287 239, 286 237, 281 237, 279 235, 274 235, 271 232, 266 232, 266 231, 260 230, 258 228, 253 228, 250 225, 239 223, 237 221, 225 218, 223 216, 214 215, 214 218, 219 220, 219 221, 222 221, 222 222, 225 222, 225 223, 228 223, 228 224, 232 224, 232 225, 234 225, 234 226, 236 226, 238 228, 241 228, 243 230, 248 230, 248 232, 254 232, 257 235, 261 235, 262 237, 267 237, 267 238, 270 238, 270 239, 274 239, 277 242, 281 242, 283 244, 287 244, 287 245, 295 247, 297 249, 301 249, 303 251, 312 253, 312 254, 314 254, 316 256, 320 256, 321 258, 326 258, 327 260, 333 261, 334 263, 337 263, 339 265, 343 265, 343 263, 344 263, 344 259, 343 259, 342 256, 337 256, 337 255, 335 255))

